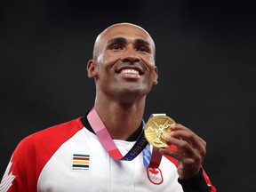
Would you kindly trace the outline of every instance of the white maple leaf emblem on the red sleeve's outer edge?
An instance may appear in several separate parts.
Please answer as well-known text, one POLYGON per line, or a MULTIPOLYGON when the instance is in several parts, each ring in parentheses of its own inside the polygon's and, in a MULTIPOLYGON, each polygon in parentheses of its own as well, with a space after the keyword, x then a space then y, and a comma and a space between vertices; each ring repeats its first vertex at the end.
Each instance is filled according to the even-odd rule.
POLYGON ((4 177, 0 183, 0 191, 5 192, 8 191, 9 188, 11 188, 12 186, 12 181, 14 180, 14 178, 16 177, 15 175, 12 175, 12 172, 10 172, 12 167, 12 159, 9 162, 5 172, 4 172, 4 177))

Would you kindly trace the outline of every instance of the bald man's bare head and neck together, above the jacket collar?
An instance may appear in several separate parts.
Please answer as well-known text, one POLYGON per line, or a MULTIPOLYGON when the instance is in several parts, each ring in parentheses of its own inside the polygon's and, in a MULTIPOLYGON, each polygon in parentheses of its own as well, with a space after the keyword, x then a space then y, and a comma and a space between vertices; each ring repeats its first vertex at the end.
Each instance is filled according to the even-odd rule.
POLYGON ((95 79, 96 111, 113 139, 126 140, 140 126, 146 95, 157 82, 152 38, 131 24, 107 28, 87 69, 95 79))

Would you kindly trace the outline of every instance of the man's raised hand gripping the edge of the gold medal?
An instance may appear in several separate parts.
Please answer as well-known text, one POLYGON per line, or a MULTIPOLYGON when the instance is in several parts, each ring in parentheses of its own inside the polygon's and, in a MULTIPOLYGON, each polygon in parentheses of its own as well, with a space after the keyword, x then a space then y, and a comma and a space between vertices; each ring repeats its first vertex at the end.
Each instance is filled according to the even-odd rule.
POLYGON ((160 152, 177 159, 180 180, 188 179, 200 171, 206 154, 206 142, 182 124, 171 124, 171 129, 171 134, 165 140, 168 145, 176 146, 177 151, 160 148, 160 152))

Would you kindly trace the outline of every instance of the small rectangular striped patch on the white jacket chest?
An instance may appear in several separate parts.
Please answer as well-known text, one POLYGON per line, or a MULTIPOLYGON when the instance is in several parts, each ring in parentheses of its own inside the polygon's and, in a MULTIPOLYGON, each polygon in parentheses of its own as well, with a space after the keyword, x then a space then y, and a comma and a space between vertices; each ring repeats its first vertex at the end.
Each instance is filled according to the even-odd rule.
POLYGON ((71 169, 73 171, 89 170, 90 169, 90 155, 73 154, 71 169))

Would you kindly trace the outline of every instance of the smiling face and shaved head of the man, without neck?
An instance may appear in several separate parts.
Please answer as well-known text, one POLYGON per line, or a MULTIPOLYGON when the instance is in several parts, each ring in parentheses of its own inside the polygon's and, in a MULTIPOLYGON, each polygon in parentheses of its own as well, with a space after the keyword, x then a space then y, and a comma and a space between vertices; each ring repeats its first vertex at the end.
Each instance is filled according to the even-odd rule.
POLYGON ((122 24, 108 28, 94 49, 97 94, 127 100, 145 96, 157 81, 155 44, 148 33, 122 24))

